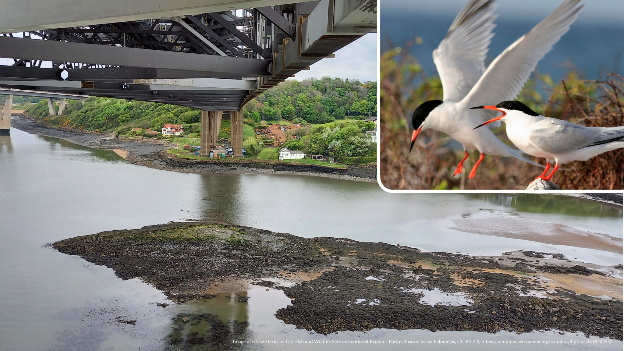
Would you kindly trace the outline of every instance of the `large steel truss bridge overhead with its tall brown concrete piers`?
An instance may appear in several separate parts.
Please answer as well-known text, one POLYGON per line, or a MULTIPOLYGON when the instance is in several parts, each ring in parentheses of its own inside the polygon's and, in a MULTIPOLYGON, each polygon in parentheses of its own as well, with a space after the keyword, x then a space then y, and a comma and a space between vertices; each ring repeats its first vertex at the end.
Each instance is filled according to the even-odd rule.
POLYGON ((3 0, 0 87, 195 107, 203 154, 227 111, 242 156, 246 102, 376 31, 376 0, 3 0))

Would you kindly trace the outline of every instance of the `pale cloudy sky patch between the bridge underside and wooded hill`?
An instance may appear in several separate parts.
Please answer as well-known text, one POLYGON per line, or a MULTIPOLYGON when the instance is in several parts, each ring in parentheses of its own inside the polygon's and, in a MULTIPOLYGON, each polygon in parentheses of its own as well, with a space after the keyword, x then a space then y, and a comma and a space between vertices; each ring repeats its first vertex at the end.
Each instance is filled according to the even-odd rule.
POLYGON ((336 57, 321 59, 310 66, 310 71, 300 71, 295 79, 324 76, 359 79, 361 82, 377 80, 377 33, 369 33, 336 51, 336 57))

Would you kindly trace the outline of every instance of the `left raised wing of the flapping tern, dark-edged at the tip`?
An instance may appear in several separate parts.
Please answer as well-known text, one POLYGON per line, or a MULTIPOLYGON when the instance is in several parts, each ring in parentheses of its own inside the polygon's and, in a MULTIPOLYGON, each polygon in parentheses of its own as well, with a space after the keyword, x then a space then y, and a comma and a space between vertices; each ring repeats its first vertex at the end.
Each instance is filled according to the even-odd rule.
POLYGON ((433 51, 444 101, 459 102, 485 72, 485 56, 496 26, 493 0, 470 0, 433 51))

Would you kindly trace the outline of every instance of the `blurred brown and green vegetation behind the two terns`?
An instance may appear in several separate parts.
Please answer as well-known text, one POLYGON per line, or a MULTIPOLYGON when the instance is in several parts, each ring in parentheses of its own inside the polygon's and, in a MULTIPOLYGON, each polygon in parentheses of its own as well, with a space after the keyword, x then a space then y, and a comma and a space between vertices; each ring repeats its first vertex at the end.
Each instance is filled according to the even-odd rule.
MULTIPOLYGON (((411 154, 408 152, 412 112, 424 101, 442 99, 439 77, 428 77, 408 52, 409 45, 381 55, 381 182, 388 189, 526 189, 544 169, 513 157, 487 155, 474 179, 467 179, 479 157, 477 151, 471 151, 464 172, 453 176, 464 151, 441 132, 422 132, 411 154)), ((570 71, 555 84, 549 76, 535 72, 517 100, 544 116, 583 126, 624 126, 623 87, 624 79, 617 74, 610 74, 605 81, 583 81, 570 71), (547 92, 548 99, 539 88, 547 92)), ((505 124, 494 133, 512 146, 505 124)), ((545 164, 544 159, 527 158, 545 164)), ((623 170, 624 149, 618 149, 589 161, 565 164, 552 180, 562 189, 624 189, 623 170)))

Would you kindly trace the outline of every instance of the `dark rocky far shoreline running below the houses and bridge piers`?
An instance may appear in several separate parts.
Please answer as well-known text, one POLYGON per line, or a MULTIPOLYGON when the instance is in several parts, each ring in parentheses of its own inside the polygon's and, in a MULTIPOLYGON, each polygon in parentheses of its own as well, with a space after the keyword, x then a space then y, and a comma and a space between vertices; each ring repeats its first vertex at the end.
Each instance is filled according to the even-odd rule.
POLYGON ((56 137, 80 146, 107 149, 132 164, 164 171, 195 174, 295 174, 359 182, 377 182, 376 166, 348 166, 346 169, 334 169, 283 162, 278 164, 255 162, 250 159, 193 160, 168 154, 167 150, 172 147, 171 144, 125 141, 117 139, 110 133, 96 134, 39 126, 34 120, 22 116, 11 119, 11 127, 30 134, 56 137))

